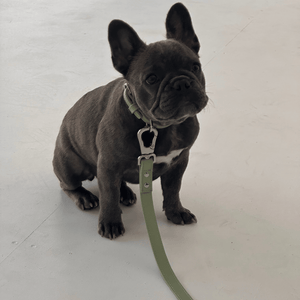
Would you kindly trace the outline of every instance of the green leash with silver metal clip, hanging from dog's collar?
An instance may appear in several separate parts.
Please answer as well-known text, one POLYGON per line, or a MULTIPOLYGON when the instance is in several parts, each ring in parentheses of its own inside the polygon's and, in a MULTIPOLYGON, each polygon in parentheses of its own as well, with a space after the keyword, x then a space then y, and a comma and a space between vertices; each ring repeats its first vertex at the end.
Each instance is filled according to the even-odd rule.
POLYGON ((156 263, 159 270, 168 284, 174 295, 179 300, 193 300, 188 292, 184 289, 182 284, 174 274, 169 260, 167 258, 159 229, 157 226, 156 216, 154 212, 153 200, 152 200, 152 174, 153 174, 153 163, 155 162, 156 156, 154 154, 155 142, 158 135, 157 130, 151 126, 145 127, 139 130, 138 140, 141 147, 142 155, 138 158, 138 164, 140 166, 139 182, 140 182, 140 195, 146 227, 153 250, 156 263), (145 147, 142 135, 143 133, 153 132, 152 143, 150 147, 145 147))

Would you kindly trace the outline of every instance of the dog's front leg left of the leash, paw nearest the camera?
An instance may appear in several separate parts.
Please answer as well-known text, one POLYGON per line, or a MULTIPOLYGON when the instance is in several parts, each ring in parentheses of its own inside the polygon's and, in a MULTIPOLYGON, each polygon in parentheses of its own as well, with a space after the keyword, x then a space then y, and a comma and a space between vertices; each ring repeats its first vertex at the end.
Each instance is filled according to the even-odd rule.
POLYGON ((125 232, 120 208, 122 180, 116 168, 105 165, 100 162, 97 169, 100 204, 98 233, 102 237, 115 239, 125 232))

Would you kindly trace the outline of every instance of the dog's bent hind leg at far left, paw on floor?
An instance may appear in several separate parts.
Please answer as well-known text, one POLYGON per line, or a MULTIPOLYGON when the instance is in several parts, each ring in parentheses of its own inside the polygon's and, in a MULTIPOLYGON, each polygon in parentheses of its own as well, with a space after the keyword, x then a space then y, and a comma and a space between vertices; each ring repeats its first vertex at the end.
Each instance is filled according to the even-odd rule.
POLYGON ((73 151, 63 153, 55 149, 53 167, 61 188, 80 209, 92 209, 99 205, 99 199, 82 187, 82 181, 93 180, 94 175, 81 157, 73 151))

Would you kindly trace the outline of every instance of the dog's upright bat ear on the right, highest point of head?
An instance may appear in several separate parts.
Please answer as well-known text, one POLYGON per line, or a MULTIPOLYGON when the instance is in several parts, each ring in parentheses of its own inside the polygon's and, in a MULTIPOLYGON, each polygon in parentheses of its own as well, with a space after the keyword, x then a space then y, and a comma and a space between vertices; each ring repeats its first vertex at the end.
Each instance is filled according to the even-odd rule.
POLYGON ((166 19, 166 29, 168 39, 175 39, 195 53, 199 52, 200 43, 194 32, 191 16, 182 3, 176 3, 170 8, 166 19))

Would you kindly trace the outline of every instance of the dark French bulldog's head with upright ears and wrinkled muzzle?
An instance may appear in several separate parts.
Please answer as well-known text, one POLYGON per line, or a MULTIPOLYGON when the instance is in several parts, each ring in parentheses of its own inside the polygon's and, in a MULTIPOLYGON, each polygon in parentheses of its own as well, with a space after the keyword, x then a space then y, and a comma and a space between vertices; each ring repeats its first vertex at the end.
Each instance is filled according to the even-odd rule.
POLYGON ((167 40, 149 45, 123 21, 113 20, 108 30, 115 69, 124 75, 145 117, 163 126, 195 116, 208 101, 200 44, 183 4, 171 7, 166 29, 167 40))

